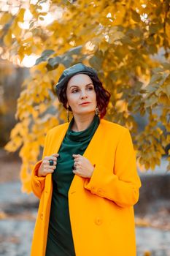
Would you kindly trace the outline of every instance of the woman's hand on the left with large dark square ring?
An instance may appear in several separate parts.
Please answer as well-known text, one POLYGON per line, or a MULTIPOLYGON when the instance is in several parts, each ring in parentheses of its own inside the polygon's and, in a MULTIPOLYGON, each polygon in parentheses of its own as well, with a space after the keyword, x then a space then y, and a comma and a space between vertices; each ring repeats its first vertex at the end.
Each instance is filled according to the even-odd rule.
POLYGON ((39 177, 45 177, 48 173, 53 173, 57 165, 57 157, 59 157, 59 154, 52 154, 50 157, 45 157, 39 166, 37 175, 39 177), (50 165, 49 160, 53 160, 54 165, 50 165))

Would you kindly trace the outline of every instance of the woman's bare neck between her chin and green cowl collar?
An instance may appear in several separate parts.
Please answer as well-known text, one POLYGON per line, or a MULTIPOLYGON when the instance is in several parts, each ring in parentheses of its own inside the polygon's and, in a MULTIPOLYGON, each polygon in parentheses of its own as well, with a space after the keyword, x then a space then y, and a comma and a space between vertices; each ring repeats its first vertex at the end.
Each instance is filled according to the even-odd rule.
POLYGON ((87 129, 93 121, 94 116, 95 113, 88 113, 86 115, 81 116, 74 114, 74 123, 72 125, 72 130, 74 132, 81 132, 84 129, 87 129))

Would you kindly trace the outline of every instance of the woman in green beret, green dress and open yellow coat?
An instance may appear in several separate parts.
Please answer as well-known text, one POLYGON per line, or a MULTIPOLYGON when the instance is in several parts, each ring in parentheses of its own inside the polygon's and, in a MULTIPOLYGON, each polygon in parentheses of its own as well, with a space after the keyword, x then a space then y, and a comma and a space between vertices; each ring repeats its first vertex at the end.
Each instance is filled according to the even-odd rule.
POLYGON ((31 256, 135 256, 141 181, 130 132, 104 120, 110 94, 94 69, 65 69, 55 89, 68 122, 47 132, 32 172, 40 202, 31 256))

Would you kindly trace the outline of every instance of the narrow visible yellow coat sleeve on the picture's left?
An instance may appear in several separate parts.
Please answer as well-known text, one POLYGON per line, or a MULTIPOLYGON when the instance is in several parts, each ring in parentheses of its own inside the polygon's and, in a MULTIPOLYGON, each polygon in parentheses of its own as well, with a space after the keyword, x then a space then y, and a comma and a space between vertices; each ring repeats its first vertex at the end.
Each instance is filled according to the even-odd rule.
MULTIPOLYGON (((45 146, 43 149, 43 154, 42 154, 42 159, 46 156, 46 151, 47 151, 47 144, 48 144, 48 133, 45 136, 45 146)), ((39 160, 39 162, 36 162, 36 165, 34 165, 34 168, 31 173, 31 189, 34 192, 34 195, 36 197, 41 197, 42 191, 45 188, 45 177, 39 177, 37 176, 38 170, 40 165, 42 164, 42 159, 39 160)))

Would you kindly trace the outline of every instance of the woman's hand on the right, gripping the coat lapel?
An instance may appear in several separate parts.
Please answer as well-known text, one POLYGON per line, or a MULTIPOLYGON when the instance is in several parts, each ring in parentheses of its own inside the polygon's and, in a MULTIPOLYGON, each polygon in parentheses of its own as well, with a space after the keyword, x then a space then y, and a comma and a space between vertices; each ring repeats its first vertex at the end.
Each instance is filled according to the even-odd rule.
POLYGON ((90 161, 80 154, 73 154, 72 156, 74 157, 74 167, 76 167, 76 170, 73 170, 73 173, 84 178, 90 178, 94 170, 94 166, 90 161))

